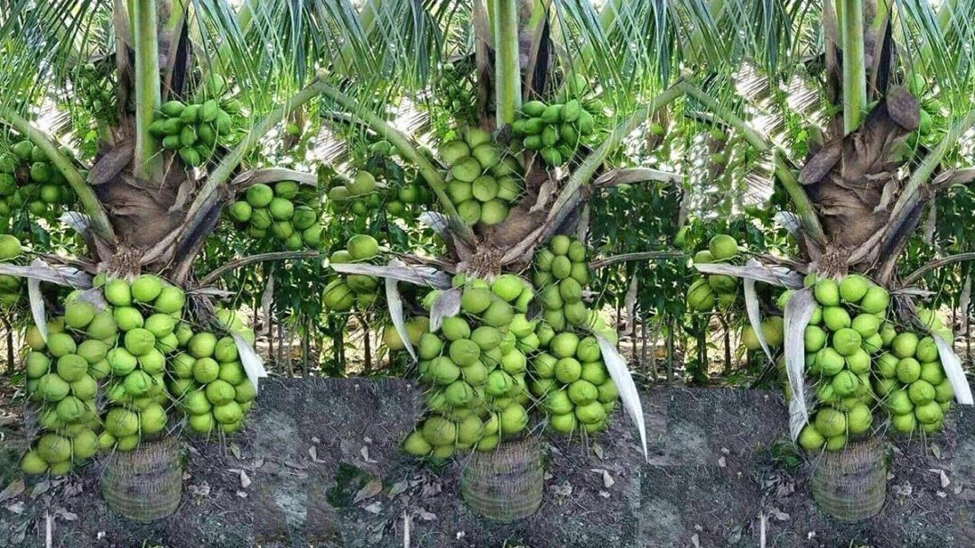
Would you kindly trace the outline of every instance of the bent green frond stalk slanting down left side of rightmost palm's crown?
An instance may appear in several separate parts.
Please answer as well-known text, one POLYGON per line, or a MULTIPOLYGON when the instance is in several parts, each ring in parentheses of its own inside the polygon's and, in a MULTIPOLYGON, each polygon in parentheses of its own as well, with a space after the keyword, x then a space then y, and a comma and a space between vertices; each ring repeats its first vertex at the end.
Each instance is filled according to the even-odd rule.
MULTIPOLYGON (((682 82, 679 84, 683 91, 698 102, 708 107, 715 116, 720 118, 722 122, 731 126, 741 132, 742 137, 748 142, 748 144, 755 147, 759 152, 767 152, 772 149, 772 145, 765 140, 761 134, 752 129, 745 123, 744 120, 738 118, 733 112, 723 107, 710 95, 702 91, 700 88, 692 85, 689 82, 682 82)), ((819 222, 819 217, 816 215, 816 210, 812 206, 812 202, 809 201, 809 197, 806 196, 805 191, 802 190, 799 179, 796 174, 793 173, 789 164, 786 163, 784 153, 776 148, 772 151, 775 163, 775 175, 776 178, 782 183, 782 186, 786 189, 789 194, 790 200, 792 200, 793 205, 796 207, 796 212, 799 213, 800 219, 802 221, 802 228, 805 234, 811 237, 814 241, 823 244, 826 242, 826 236, 823 233, 823 226, 819 222)))

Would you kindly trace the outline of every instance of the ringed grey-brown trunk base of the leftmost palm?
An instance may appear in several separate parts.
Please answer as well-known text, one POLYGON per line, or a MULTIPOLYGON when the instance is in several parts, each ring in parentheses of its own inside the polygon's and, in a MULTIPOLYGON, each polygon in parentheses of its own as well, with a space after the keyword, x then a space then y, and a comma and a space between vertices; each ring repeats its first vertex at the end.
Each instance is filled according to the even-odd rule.
POLYGON ((101 495, 108 507, 141 523, 176 512, 182 497, 182 467, 175 438, 143 441, 131 452, 105 459, 101 495))

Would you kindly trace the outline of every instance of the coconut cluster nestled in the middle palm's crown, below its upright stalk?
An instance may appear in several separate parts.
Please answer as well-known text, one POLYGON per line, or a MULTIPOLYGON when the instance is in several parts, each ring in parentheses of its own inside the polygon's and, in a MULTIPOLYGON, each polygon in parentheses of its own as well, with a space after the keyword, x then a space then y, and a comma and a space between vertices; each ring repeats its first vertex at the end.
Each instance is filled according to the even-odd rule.
POLYGON ((522 194, 522 165, 484 129, 465 128, 460 133, 462 138, 439 149, 441 160, 450 166, 447 195, 468 226, 503 222, 522 194))

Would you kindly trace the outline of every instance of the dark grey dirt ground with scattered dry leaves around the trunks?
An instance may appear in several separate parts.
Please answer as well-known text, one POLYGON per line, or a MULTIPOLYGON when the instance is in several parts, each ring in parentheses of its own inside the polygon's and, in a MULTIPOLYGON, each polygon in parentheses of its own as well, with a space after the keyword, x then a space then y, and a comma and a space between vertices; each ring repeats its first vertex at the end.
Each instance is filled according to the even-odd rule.
POLYGON ((768 547, 975 546, 970 413, 937 439, 898 440, 882 512, 843 525, 808 495, 778 394, 654 388, 648 462, 621 412, 588 440, 546 436, 541 508, 499 525, 460 498, 465 459, 434 469, 393 449, 419 413, 409 383, 270 380, 260 398, 243 435, 185 446, 182 502, 148 525, 105 506, 96 466, 21 488, 10 455, 25 441, 7 420, 0 546, 43 546, 49 522, 55 547, 401 547, 407 523, 414 547, 760 546, 762 530, 768 547))

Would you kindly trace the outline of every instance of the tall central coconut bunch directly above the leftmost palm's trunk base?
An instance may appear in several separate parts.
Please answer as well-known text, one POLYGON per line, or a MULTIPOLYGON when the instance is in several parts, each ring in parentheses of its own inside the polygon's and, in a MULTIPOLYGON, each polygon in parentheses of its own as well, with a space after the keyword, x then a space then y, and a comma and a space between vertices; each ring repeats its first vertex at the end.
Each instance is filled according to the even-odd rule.
POLYGON ((96 285, 111 308, 98 312, 88 329, 113 333, 115 341, 105 352, 107 412, 98 441, 104 450, 132 451, 169 422, 165 372, 187 334, 186 295, 155 274, 139 274, 131 282, 99 275, 96 285))

